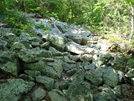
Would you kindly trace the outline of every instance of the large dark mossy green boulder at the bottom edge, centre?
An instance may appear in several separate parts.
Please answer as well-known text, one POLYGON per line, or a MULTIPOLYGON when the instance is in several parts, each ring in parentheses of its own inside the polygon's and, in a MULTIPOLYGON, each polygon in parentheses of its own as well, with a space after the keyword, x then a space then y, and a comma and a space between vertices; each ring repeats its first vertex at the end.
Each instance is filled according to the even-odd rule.
POLYGON ((66 96, 69 101, 93 101, 93 94, 87 82, 72 82, 66 96))

